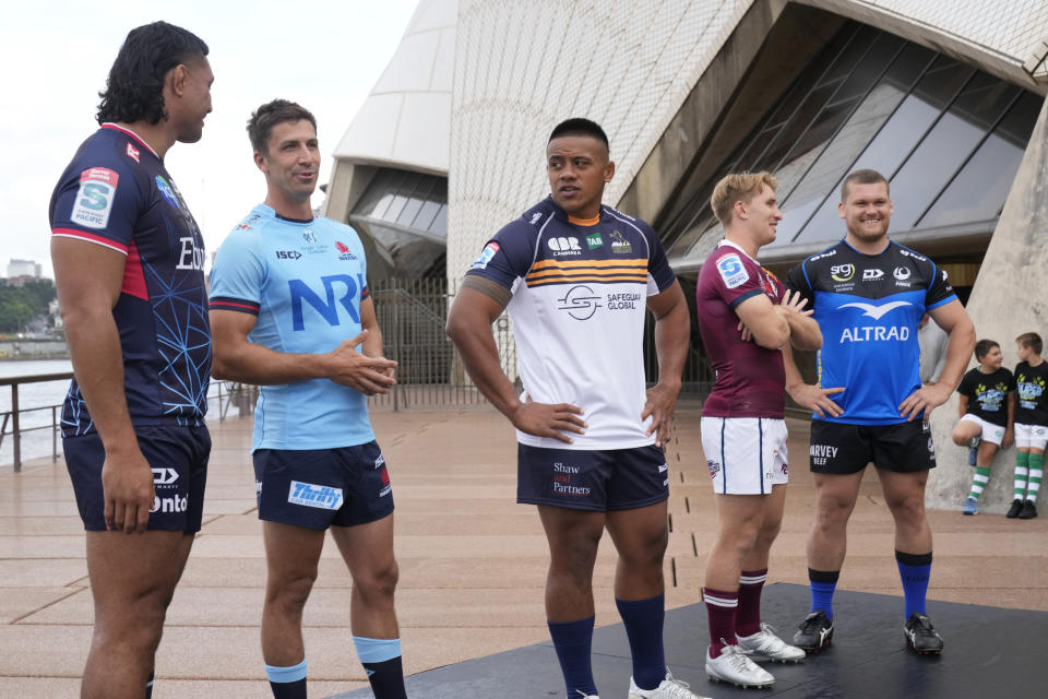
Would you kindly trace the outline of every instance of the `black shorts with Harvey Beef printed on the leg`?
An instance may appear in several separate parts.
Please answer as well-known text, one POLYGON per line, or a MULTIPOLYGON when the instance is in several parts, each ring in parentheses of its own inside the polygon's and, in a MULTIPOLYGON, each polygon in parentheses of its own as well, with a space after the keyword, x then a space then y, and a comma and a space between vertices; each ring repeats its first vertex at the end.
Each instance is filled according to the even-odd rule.
POLYGON ((811 420, 808 461, 812 473, 847 475, 872 463, 878 469, 914 473, 936 467, 936 447, 922 419, 895 425, 845 425, 811 420))

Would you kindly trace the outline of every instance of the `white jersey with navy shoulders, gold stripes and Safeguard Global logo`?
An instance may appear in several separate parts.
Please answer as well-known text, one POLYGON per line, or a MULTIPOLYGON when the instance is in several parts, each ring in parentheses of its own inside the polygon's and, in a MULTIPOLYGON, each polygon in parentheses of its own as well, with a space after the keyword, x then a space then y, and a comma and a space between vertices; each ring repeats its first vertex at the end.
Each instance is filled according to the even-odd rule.
POLYGON ((549 449, 632 449, 644 433, 644 313, 648 296, 676 277, 655 232, 602 206, 593 221, 569 217, 551 197, 499 230, 466 274, 513 293, 521 400, 571 403, 588 423, 571 445, 517 430, 549 449))

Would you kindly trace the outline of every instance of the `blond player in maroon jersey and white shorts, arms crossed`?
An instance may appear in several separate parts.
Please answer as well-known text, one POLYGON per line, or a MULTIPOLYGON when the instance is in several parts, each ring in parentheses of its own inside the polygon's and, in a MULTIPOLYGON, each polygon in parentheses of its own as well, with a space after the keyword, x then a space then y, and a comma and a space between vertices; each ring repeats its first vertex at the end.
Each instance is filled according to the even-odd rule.
POLYGON ((781 348, 822 344, 805 300, 785 292, 757 261, 783 218, 777 185, 769 173, 733 173, 717 182, 710 204, 725 239, 703 263, 695 289, 699 331, 717 376, 701 423, 718 518, 703 588, 705 665, 710 677, 742 687, 775 682, 753 660, 805 657, 761 619, 769 553, 789 481, 781 348))

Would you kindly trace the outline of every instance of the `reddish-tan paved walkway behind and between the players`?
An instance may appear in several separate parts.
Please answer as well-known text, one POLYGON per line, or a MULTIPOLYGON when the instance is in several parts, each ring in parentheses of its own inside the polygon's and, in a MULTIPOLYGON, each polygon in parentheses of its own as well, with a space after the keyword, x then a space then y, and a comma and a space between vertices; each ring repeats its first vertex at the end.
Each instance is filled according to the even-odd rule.
MULTIPOLYGON (((679 436, 667 450, 670 607, 700 601, 716 522, 698 411, 682 407, 678 417, 679 436)), ((533 508, 513 501, 515 439, 509 424, 484 408, 377 413, 373 422, 397 503, 397 608, 406 672, 546 640, 546 543, 533 508)), ((803 420, 789 424, 793 481, 769 579, 806 584, 813 499, 808 433, 803 420)), ((247 457, 251 420, 212 427, 204 526, 168 613, 156 699, 270 697, 258 642, 265 562, 247 457)), ((995 477, 1011 477, 1010 467, 997 471, 995 477)), ((934 511, 930 519, 936 533, 931 599, 1048 611, 1048 518, 934 511)), ((850 532, 839 588, 901 594, 892 525, 872 473, 850 532)), ((594 581, 598 626, 619 620, 614 566, 605 542, 594 581)), ((82 528, 63 464, 47 460, 27 464, 21 474, 4 470, 0 696, 76 696, 92 624, 86 574, 82 528)), ((349 640, 349 587, 331 544, 306 611, 311 697, 367 686, 349 640)))

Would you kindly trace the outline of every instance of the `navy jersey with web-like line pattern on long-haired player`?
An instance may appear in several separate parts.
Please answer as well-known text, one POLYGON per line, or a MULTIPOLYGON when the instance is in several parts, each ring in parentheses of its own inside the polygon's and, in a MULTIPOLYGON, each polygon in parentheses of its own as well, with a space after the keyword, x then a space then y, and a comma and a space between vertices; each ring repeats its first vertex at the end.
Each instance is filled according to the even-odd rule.
MULTIPOLYGON (((49 215, 52 236, 127 256, 112 316, 132 423, 201 425, 211 380, 204 240, 164 161, 133 132, 103 125, 59 178, 49 215)), ((62 435, 91 431, 73 379, 62 435)))

